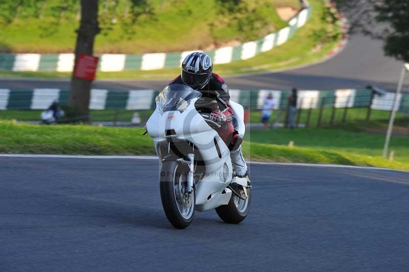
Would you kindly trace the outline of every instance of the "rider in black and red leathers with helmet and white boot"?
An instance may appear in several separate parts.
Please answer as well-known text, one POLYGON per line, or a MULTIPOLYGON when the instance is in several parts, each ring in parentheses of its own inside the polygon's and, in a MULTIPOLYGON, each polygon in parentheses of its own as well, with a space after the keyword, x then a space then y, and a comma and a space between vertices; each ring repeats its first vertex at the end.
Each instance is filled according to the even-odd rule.
POLYGON ((203 97, 215 99, 218 106, 213 108, 210 119, 219 125, 217 129, 221 139, 229 147, 230 156, 236 174, 244 177, 248 174, 247 165, 241 152, 243 139, 233 126, 233 109, 230 107, 227 83, 213 73, 212 59, 202 52, 189 54, 182 63, 181 74, 170 84, 185 84, 203 94, 203 97))

